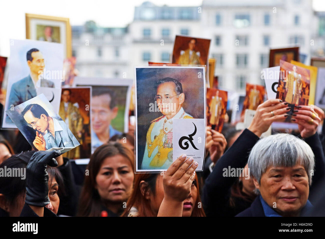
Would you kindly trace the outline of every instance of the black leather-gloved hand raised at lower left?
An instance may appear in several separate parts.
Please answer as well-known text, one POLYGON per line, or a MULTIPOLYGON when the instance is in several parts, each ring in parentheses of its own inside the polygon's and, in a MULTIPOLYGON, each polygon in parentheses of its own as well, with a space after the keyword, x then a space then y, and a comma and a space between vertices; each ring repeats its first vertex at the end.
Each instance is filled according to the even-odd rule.
POLYGON ((48 199, 48 174, 47 165, 56 167, 54 159, 60 151, 37 151, 33 154, 26 167, 26 199, 29 205, 44 207, 50 203, 48 199))

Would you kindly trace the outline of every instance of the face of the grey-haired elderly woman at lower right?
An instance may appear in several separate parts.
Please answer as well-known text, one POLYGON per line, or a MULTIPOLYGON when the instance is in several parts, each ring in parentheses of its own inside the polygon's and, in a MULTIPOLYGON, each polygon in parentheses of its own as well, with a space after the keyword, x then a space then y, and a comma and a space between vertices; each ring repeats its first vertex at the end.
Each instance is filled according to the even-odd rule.
POLYGON ((308 175, 304 166, 270 166, 262 174, 260 184, 254 179, 264 201, 281 216, 299 216, 309 195, 308 175), (276 203, 276 208, 273 207, 276 203))

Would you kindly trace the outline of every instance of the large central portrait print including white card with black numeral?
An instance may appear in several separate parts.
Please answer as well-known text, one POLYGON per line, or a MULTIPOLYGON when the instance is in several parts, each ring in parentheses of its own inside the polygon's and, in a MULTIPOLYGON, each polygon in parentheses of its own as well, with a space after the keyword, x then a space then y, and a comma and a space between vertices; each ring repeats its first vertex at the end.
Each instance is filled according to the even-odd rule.
POLYGON ((160 172, 182 154, 203 169, 205 68, 135 67, 136 172, 160 172))

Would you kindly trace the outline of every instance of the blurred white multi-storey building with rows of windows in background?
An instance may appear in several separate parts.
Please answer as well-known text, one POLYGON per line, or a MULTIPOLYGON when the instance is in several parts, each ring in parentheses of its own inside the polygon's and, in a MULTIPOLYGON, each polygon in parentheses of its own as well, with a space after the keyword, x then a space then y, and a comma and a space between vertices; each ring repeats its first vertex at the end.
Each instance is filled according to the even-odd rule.
POLYGON ((324 56, 325 13, 311 0, 203 0, 197 7, 135 7, 125 28, 87 21, 72 26, 72 54, 80 76, 134 78, 134 66, 171 62, 175 35, 211 39, 219 85, 243 91, 245 83, 264 85, 269 49, 300 46, 300 53, 324 56))

